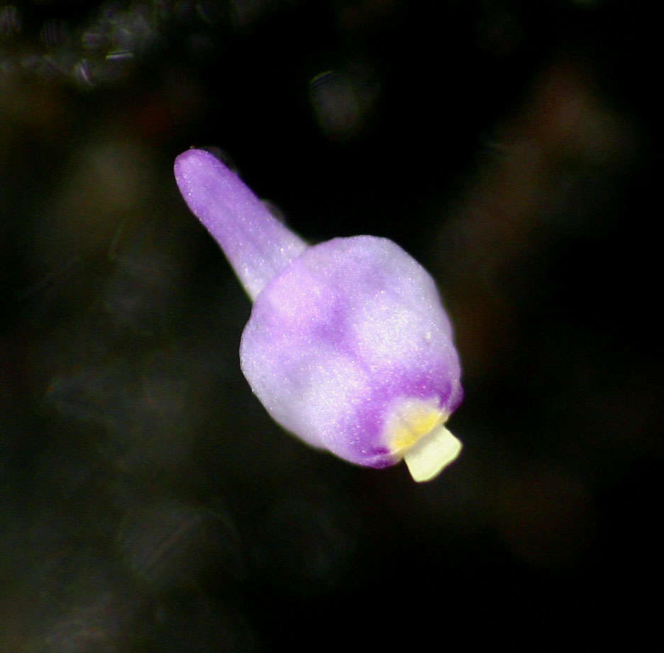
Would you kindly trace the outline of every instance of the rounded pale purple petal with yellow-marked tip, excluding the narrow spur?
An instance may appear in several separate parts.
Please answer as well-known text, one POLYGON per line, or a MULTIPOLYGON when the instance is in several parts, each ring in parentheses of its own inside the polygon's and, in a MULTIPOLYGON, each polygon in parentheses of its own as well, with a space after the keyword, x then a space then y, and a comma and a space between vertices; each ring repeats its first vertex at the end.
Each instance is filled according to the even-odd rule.
POLYGON ((365 466, 402 459, 462 397, 436 285, 386 238, 334 238, 295 258, 256 297, 240 361, 277 422, 365 466))

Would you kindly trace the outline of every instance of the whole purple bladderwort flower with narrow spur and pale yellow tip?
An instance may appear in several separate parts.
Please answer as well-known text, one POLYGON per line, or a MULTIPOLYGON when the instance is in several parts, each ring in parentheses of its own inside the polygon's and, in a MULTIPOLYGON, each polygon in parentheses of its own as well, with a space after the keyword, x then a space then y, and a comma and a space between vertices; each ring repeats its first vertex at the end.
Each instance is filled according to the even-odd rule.
POLYGON ((426 270, 387 238, 309 246, 205 150, 179 155, 175 179, 253 300, 240 366, 267 412, 350 463, 404 459, 415 481, 452 462, 461 371, 426 270))

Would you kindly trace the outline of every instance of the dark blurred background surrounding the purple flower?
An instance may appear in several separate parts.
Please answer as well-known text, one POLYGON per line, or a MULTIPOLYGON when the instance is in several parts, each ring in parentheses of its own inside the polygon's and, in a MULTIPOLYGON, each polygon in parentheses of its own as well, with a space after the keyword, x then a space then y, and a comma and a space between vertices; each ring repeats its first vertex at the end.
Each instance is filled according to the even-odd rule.
POLYGON ((660 42, 609 0, 0 3, 0 650, 643 648, 660 42), (436 481, 267 417, 190 146, 431 270, 466 390, 436 481))

